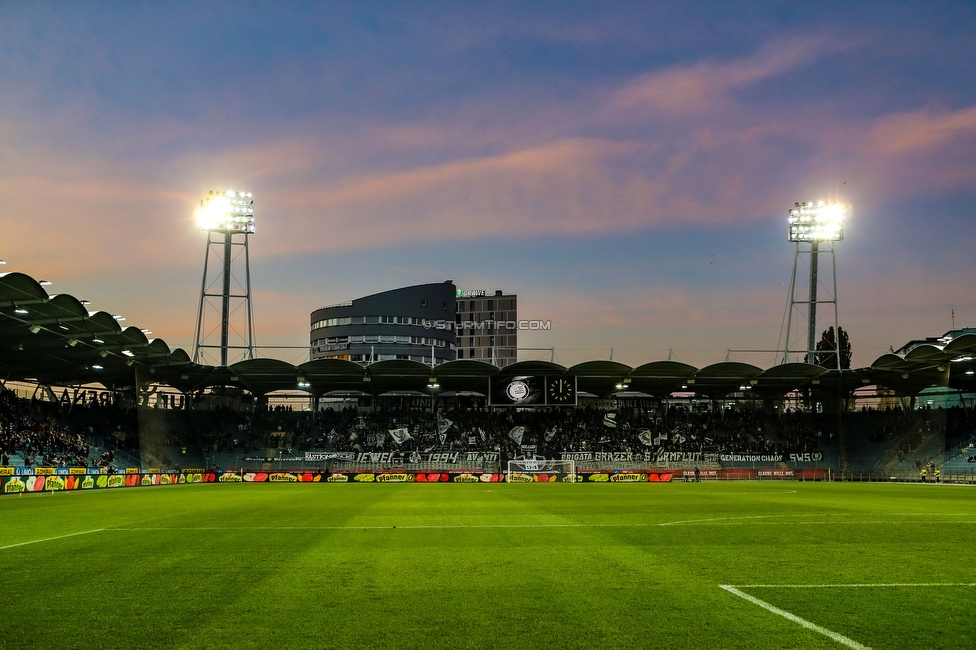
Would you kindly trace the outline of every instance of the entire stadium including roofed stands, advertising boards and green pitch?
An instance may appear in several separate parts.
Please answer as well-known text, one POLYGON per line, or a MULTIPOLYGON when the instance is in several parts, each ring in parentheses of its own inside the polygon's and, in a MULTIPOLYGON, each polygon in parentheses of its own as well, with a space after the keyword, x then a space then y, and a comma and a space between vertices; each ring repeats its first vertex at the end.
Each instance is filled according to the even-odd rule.
POLYGON ((858 369, 211 366, 21 273, 0 301, 0 561, 58 585, 5 647, 973 641, 976 332, 858 369))

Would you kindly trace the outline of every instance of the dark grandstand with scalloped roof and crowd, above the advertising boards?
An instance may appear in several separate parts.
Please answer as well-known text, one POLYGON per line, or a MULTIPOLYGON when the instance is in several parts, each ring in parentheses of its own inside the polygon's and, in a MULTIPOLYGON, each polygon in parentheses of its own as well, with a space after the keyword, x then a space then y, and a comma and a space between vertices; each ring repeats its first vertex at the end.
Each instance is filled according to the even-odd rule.
POLYGON ((0 277, 0 315, 4 466, 503 472, 528 456, 706 478, 915 480, 939 468, 970 482, 976 470, 968 330, 852 370, 467 359, 222 367, 21 273, 0 277), (282 392, 303 397, 276 401, 282 392), (934 394, 943 401, 930 404, 934 394))

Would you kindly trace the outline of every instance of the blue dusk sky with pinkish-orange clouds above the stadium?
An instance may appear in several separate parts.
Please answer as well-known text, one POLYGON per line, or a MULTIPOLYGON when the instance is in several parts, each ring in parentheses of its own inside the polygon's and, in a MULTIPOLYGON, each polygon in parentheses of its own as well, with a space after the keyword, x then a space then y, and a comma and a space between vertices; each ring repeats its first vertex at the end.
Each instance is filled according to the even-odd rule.
POLYGON ((976 327, 973 33, 971 1, 12 0, 0 258, 192 353, 194 210, 233 188, 259 356, 304 361, 270 346, 318 307, 451 279, 518 294, 551 323, 520 346, 565 365, 768 367, 788 210, 841 200, 866 366, 976 327))

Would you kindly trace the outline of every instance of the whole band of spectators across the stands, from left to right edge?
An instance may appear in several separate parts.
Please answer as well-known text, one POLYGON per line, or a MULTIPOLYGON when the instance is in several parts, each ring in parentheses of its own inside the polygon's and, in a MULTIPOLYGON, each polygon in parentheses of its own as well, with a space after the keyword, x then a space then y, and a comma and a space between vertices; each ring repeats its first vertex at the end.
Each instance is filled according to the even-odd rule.
MULTIPOLYGON (((972 431, 972 425, 960 424, 959 418, 939 415, 864 409, 845 418, 860 422, 871 440, 897 441, 897 452, 904 457, 933 433, 972 431)), ((162 467, 196 463, 219 453, 266 456, 278 450, 775 455, 823 451, 835 444, 837 435, 836 414, 779 412, 758 405, 732 408, 635 400, 599 408, 489 409, 445 400, 435 410, 426 399, 396 398, 377 400, 372 408, 318 412, 281 406, 241 410, 230 405, 137 410, 94 401, 72 409, 0 391, 0 462, 19 453, 25 465, 62 467, 109 465, 116 460, 116 449, 162 467), (99 447, 100 455, 90 454, 91 446, 99 447)))

